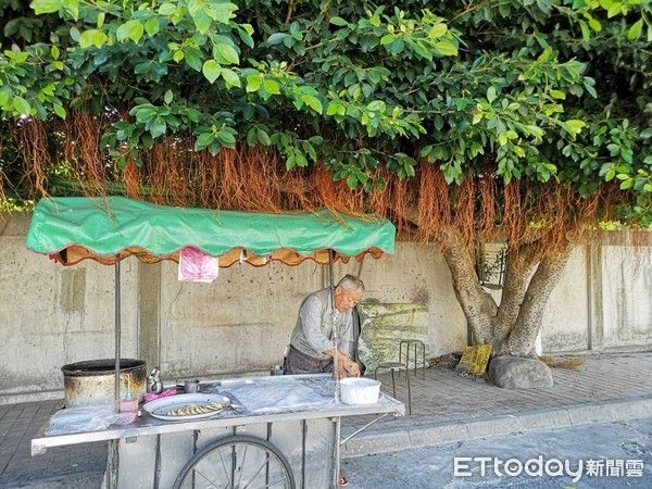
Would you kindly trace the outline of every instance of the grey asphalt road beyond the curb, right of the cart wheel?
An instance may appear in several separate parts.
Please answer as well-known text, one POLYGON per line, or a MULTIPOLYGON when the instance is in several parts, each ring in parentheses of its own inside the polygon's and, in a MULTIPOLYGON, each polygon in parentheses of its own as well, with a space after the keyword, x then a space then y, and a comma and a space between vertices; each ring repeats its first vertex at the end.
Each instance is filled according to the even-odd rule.
POLYGON ((352 489, 650 489, 652 418, 366 455, 342 469, 352 489))

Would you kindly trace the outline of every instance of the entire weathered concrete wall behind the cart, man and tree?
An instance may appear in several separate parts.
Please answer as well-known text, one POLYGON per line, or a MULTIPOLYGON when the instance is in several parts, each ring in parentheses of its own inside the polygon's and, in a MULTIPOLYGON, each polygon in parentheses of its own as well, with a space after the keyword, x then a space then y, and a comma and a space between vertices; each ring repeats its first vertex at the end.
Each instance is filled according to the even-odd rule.
MULTIPOLYGON (((63 267, 26 250, 27 223, 0 221, 0 403, 61 396, 62 365, 113 356, 113 267, 63 267)), ((393 256, 338 263, 335 276, 346 273, 367 286, 363 351, 372 362, 396 358, 405 337, 424 340, 429 355, 466 344, 432 246, 399 243, 393 256)), ((303 297, 328 285, 312 262, 236 264, 213 284, 186 284, 172 262, 128 259, 122 275, 123 356, 161 365, 167 378, 267 371, 283 359, 303 297)), ((577 248, 543 316, 542 343, 546 353, 652 348, 652 248, 577 248)))

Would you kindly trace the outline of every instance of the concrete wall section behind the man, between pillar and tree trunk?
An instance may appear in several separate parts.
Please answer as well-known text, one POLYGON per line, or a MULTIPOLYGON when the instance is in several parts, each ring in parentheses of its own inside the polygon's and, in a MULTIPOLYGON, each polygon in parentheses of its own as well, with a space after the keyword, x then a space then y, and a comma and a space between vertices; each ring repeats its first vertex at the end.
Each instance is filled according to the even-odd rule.
MULTIPOLYGON (((236 264, 221 269, 213 284, 179 283, 172 262, 154 266, 161 266, 161 366, 179 377, 267 371, 280 363, 301 301, 328 285, 327 269, 308 261, 296 267, 236 264)), ((442 353, 466 343, 464 316, 447 271, 431 246, 402 243, 394 256, 366 259, 362 266, 338 263, 335 277, 359 275, 367 287, 365 301, 391 303, 386 308, 405 313, 390 324, 397 326, 390 334, 396 346, 399 337, 415 337, 432 353, 442 353), (414 310, 421 311, 416 321, 414 310)), ((365 328, 363 341, 374 333, 365 328)), ((396 348, 389 355, 394 358, 396 348)))

